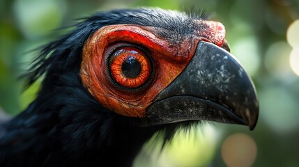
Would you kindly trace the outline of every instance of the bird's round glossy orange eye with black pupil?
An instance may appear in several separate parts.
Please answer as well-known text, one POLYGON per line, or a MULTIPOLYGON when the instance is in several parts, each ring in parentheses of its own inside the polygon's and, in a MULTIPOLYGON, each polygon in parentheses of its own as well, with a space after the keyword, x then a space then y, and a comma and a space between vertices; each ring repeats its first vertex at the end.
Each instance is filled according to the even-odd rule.
POLYGON ((151 77, 151 62, 140 49, 120 47, 109 58, 109 71, 116 84, 139 88, 151 77))

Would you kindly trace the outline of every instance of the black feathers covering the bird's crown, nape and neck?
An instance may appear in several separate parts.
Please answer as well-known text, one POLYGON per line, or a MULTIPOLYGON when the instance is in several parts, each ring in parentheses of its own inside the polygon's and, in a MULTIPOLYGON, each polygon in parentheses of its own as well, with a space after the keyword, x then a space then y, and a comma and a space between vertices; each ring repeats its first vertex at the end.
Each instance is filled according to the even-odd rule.
POLYGON ((160 32, 164 38, 175 40, 179 34, 192 33, 194 19, 206 19, 202 13, 192 13, 159 8, 99 12, 41 47, 24 75, 28 86, 43 77, 38 97, 3 125, 6 134, 0 138, 0 166, 131 166, 155 132, 164 129, 165 144, 178 128, 198 123, 141 127, 146 120, 119 116, 98 104, 79 77, 84 42, 102 26, 155 26, 165 30, 160 32))

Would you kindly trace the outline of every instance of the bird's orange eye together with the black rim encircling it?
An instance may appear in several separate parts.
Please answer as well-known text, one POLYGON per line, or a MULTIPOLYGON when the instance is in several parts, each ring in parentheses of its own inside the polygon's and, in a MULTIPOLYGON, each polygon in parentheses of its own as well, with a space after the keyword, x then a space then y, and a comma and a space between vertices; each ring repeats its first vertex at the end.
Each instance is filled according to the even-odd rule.
POLYGON ((151 84, 155 67, 147 49, 128 43, 116 44, 110 48, 113 49, 108 52, 105 64, 111 84, 129 92, 143 90, 151 84), (139 70, 132 70, 132 66, 139 67, 139 70), (123 72, 125 68, 129 70, 123 72))

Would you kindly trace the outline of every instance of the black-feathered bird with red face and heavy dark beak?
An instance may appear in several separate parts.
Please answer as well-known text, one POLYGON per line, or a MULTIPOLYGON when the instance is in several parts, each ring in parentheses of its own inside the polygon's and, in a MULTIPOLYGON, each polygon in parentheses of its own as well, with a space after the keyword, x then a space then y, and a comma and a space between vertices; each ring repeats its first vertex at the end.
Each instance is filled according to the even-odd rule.
POLYGON ((37 97, 0 125, 0 166, 132 166, 156 132, 202 122, 247 125, 256 89, 222 23, 197 10, 100 11, 40 47, 37 97))

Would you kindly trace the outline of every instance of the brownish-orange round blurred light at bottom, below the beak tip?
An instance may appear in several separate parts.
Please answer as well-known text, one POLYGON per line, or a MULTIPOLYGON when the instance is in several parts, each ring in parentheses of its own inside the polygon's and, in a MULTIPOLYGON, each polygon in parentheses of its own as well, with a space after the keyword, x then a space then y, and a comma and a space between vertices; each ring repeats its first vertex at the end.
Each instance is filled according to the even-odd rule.
POLYGON ((256 153, 256 143, 247 134, 232 134, 221 148, 222 159, 230 167, 252 166, 256 153))

